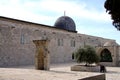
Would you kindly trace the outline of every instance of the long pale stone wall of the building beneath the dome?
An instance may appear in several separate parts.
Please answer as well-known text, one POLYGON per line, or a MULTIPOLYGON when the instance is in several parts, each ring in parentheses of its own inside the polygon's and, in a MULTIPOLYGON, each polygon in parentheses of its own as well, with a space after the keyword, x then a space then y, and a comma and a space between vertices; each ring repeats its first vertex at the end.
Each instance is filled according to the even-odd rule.
POLYGON ((113 66, 119 63, 120 47, 115 40, 0 17, 0 66, 33 65, 36 51, 33 40, 43 39, 49 40, 50 63, 73 61, 72 53, 84 45, 96 47, 98 54, 107 48, 113 55, 113 66), (113 45, 104 46, 106 42, 113 45))

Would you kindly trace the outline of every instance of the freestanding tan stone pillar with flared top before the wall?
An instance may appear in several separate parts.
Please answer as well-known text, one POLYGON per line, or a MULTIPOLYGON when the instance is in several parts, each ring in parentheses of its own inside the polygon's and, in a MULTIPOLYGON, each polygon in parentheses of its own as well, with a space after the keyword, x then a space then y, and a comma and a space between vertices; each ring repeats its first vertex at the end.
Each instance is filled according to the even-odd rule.
POLYGON ((49 70, 49 51, 47 40, 33 40, 36 45, 35 68, 38 70, 49 70))

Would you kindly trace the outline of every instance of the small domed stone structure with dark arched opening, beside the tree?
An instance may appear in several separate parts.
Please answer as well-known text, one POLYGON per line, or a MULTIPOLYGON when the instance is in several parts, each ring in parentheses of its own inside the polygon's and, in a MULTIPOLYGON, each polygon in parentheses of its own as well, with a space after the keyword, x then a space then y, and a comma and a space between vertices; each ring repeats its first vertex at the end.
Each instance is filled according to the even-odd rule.
POLYGON ((101 65, 119 66, 119 45, 117 43, 107 41, 103 46, 97 46, 96 52, 101 57, 101 65))

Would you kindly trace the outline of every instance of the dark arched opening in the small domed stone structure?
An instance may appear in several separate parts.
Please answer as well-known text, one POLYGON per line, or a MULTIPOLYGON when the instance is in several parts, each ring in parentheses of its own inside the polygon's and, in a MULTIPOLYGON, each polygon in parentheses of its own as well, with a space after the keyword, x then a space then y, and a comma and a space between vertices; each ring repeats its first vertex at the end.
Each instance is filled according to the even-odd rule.
POLYGON ((100 62, 112 62, 111 52, 108 49, 103 49, 100 53, 100 62))

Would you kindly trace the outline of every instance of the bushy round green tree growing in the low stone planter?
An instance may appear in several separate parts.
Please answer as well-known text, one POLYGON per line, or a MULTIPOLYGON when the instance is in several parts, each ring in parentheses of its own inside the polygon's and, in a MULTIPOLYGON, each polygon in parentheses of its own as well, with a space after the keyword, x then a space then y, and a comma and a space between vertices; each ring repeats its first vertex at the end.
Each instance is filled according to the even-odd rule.
POLYGON ((74 52, 75 60, 78 63, 84 62, 86 66, 92 63, 98 63, 100 61, 99 56, 96 54, 96 51, 91 46, 85 46, 84 48, 79 48, 74 52))

